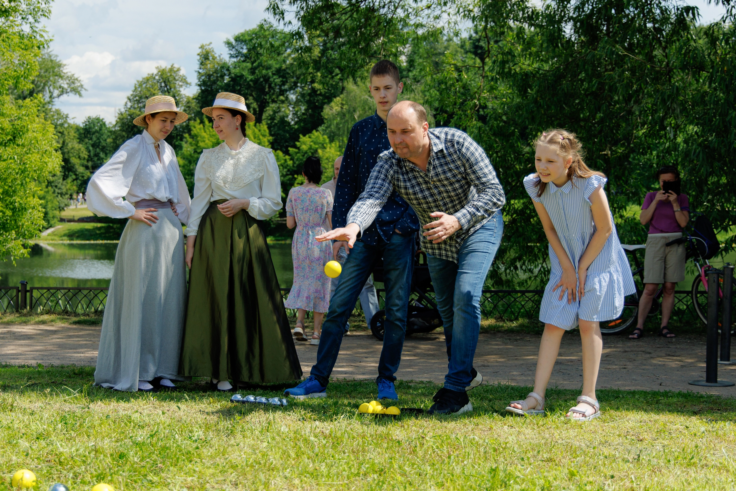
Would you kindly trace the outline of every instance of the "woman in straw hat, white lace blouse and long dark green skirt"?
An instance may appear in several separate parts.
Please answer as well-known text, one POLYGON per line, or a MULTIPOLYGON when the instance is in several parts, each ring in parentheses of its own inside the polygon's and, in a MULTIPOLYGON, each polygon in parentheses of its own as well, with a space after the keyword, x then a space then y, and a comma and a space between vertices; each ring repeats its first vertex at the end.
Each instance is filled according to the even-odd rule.
POLYGON ((246 138, 255 118, 243 97, 221 92, 202 113, 223 143, 202 152, 194 172, 180 374, 209 377, 221 391, 297 380, 302 369, 261 230, 282 206, 276 159, 246 138))

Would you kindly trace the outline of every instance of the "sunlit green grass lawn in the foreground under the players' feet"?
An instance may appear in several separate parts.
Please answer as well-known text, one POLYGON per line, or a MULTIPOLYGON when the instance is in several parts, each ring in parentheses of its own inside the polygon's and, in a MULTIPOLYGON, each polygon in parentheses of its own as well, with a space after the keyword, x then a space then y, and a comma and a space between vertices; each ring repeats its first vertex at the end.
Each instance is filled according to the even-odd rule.
MULTIPOLYGON (((0 366, 0 490, 26 467, 38 489, 105 481, 116 490, 726 490, 735 487, 736 400, 601 390, 604 416, 565 420, 577 392, 548 392, 546 417, 503 408, 528 388, 483 385, 459 417, 358 414, 372 381, 286 409, 205 392, 93 388, 88 367, 0 366)), ((399 382, 400 406, 437 386, 399 382)), ((280 392, 241 391, 275 396, 280 392)))

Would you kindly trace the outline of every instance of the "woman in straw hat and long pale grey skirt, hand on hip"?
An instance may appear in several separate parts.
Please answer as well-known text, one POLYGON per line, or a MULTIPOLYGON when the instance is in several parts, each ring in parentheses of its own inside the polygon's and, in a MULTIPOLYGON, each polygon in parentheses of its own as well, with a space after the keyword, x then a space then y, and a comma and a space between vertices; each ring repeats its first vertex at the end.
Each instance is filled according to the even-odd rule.
POLYGON ((156 96, 126 141, 87 187, 99 216, 127 218, 107 294, 95 385, 123 391, 174 389, 184 321, 186 270, 181 224, 191 201, 164 138, 186 121, 174 99, 156 96))

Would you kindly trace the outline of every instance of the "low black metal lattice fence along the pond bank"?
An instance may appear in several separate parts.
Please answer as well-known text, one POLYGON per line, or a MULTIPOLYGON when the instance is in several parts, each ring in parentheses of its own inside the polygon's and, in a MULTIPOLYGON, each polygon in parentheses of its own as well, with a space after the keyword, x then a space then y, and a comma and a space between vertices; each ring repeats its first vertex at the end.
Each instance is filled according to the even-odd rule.
MULTIPOLYGON (((30 287, 25 282, 21 286, 0 286, 0 311, 12 312, 28 308, 44 313, 95 314, 105 311, 107 288, 92 287, 30 287)), ((289 297, 288 288, 282 288, 284 300, 289 297)), ((383 308, 385 289, 376 289, 378 303, 383 308)), ((543 290, 484 290, 481 297, 481 314, 485 318, 498 320, 537 319, 543 290)), ((411 300, 416 300, 412 295, 411 300)), ((428 297, 434 300, 434 293, 428 297)), ((290 316, 296 315, 288 309, 290 316)), ((355 305, 354 314, 361 314, 360 303, 355 305)), ((679 322, 694 322, 698 314, 693 308, 690 292, 675 292, 673 319, 679 322)))

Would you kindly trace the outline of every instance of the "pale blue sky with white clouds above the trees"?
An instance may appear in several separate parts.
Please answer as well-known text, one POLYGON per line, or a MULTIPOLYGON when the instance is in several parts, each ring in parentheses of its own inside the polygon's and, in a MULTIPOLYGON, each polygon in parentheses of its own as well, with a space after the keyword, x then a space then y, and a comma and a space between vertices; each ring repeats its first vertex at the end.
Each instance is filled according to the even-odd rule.
MULTIPOLYGON (((702 21, 719 18, 723 8, 707 0, 702 21)), ((82 79, 83 97, 66 96, 57 107, 81 123, 86 116, 115 119, 135 81, 159 65, 183 68, 194 93, 197 51, 212 43, 226 53, 224 40, 266 18, 268 0, 55 0, 46 29, 52 50, 82 79)))

